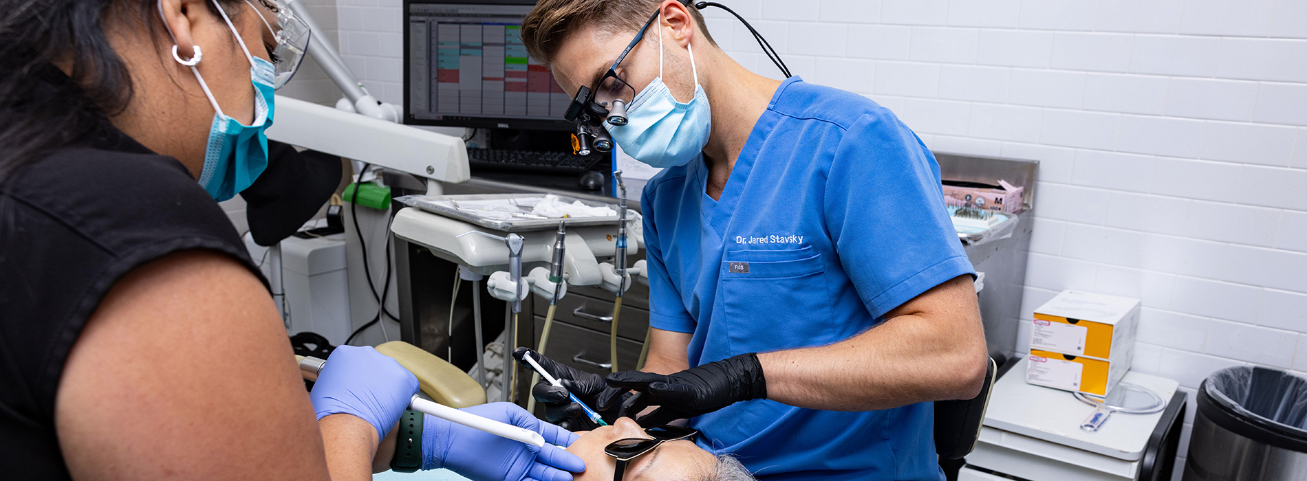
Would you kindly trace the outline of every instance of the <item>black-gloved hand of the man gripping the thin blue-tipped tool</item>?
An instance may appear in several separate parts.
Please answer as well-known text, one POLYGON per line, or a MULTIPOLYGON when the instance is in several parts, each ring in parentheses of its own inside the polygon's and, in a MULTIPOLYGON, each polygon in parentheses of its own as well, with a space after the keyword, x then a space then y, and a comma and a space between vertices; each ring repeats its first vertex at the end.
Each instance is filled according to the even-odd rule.
POLYGON ((532 373, 536 370, 521 359, 521 354, 524 353, 531 353, 531 358, 538 362, 540 367, 544 367, 545 371, 549 371, 549 375, 563 384, 562 387, 553 386, 544 376, 540 376, 540 382, 531 388, 531 395, 536 397, 536 401, 545 405, 546 421, 570 431, 584 431, 599 427, 599 425, 586 417, 586 412, 582 410, 579 404, 572 403, 567 397, 569 391, 576 395, 576 399, 593 408, 608 423, 613 423, 618 417, 623 416, 621 406, 622 401, 630 397, 627 390, 610 388, 604 376, 561 365, 554 359, 540 356, 535 349, 518 348, 514 350, 512 358, 518 359, 518 363, 525 366, 532 373))

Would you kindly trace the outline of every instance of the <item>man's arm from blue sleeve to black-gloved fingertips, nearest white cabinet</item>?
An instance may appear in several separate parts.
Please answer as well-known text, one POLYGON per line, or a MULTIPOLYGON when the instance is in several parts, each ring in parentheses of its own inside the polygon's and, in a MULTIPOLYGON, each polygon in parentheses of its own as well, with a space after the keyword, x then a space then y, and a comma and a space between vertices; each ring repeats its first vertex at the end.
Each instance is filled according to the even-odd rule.
POLYGON ((874 410, 976 396, 987 353, 970 276, 946 281, 886 318, 831 345, 745 353, 668 375, 616 373, 608 386, 642 393, 629 412, 660 406, 639 418, 644 426, 754 399, 810 409, 874 410))

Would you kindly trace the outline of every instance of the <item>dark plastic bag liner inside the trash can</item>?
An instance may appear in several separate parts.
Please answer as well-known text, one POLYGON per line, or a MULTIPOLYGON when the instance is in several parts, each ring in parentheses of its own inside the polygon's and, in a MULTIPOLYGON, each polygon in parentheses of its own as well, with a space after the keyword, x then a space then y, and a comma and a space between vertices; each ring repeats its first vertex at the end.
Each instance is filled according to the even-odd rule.
POLYGON ((1199 388, 1199 412, 1246 438, 1307 452, 1307 379, 1266 367, 1213 373, 1199 388))

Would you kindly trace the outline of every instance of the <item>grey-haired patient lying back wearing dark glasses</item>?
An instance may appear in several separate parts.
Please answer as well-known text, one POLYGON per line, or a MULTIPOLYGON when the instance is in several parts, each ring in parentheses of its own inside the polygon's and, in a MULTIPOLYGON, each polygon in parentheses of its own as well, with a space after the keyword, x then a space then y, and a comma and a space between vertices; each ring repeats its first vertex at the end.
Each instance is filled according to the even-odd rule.
MULTIPOLYGON (((654 439, 643 427, 629 417, 618 418, 612 426, 593 431, 578 431, 576 439, 567 451, 586 461, 586 472, 575 474, 575 481, 612 481, 617 459, 605 454, 604 448, 621 439, 654 439)), ((627 442, 626 444, 638 444, 627 442)), ((637 447, 638 448, 638 447, 637 447)), ((633 451, 639 452, 639 451, 633 451)), ((665 480, 665 481, 753 481, 749 471, 729 455, 715 456, 698 447, 693 440, 668 440, 651 451, 631 457, 626 464, 622 481, 665 480)))

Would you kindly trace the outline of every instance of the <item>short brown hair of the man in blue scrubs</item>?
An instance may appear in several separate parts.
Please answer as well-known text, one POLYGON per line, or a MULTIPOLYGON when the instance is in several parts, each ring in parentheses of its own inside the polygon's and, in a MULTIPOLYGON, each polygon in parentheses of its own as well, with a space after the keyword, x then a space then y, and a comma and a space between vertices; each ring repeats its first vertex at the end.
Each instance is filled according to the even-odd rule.
MULTIPOLYGON (((637 31, 657 10, 663 0, 540 0, 521 20, 521 43, 536 60, 550 64, 567 34, 583 25, 609 31, 637 31)), ((703 38, 716 46, 703 24, 703 14, 686 3, 703 38)))

